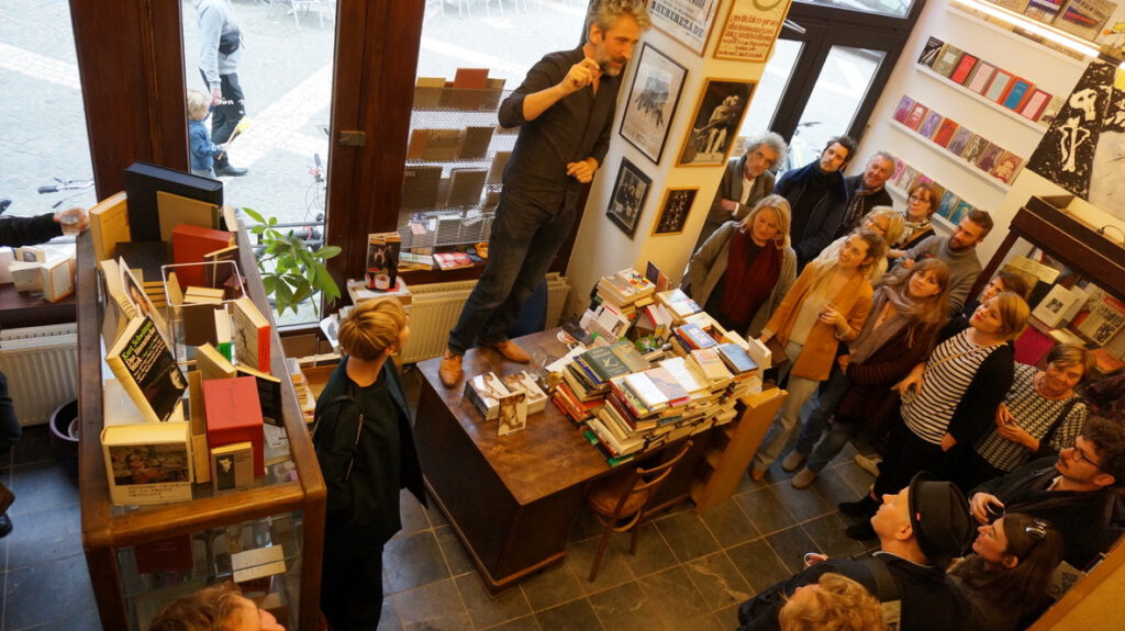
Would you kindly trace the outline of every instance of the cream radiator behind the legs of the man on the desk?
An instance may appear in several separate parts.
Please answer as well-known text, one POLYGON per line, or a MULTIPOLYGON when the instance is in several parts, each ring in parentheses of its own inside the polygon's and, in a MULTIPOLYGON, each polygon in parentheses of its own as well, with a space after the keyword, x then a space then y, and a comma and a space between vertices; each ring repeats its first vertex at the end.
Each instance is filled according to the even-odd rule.
MULTIPOLYGON (((413 364, 446 351, 449 330, 457 324, 461 307, 476 281, 432 283, 411 287, 411 339, 403 349, 403 363, 413 364)), ((547 326, 558 323, 570 283, 557 273, 547 275, 547 326)))

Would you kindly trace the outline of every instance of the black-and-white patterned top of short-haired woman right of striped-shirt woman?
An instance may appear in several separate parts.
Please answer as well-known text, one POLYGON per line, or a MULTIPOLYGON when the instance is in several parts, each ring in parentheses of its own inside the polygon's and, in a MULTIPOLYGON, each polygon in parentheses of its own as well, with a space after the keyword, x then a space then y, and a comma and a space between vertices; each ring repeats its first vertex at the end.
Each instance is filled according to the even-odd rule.
MULTIPOLYGON (((1042 439, 1051 429, 1051 423, 1059 418, 1059 414, 1062 414, 1063 409, 1079 396, 1071 394, 1066 399, 1044 399, 1035 392, 1036 373, 1038 371, 1034 366, 1016 364, 1016 375, 1011 382, 1011 390, 1008 391, 1008 396, 1005 399, 1005 404, 1008 405, 1008 411, 1011 412, 1011 418, 1017 426, 1024 428, 1024 431, 1032 437, 1042 439)), ((1074 403, 1074 406, 1066 414, 1066 420, 1059 426, 1051 440, 1051 447, 1055 451, 1074 445, 1074 439, 1082 431, 1082 423, 1086 422, 1087 414, 1084 403, 1074 403)), ((1034 455, 1023 445, 1001 438, 994 426, 989 428, 989 431, 976 441, 974 449, 990 465, 1006 472, 1027 464, 1034 455)))

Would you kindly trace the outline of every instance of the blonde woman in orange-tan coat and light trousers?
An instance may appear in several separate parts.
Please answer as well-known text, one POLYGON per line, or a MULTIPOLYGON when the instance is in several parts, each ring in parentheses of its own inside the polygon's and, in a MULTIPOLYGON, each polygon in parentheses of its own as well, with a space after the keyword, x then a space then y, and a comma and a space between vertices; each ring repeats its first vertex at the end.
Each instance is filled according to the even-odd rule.
POLYGON ((801 406, 828 378, 838 344, 854 340, 863 329, 873 294, 866 272, 885 253, 886 241, 879 235, 864 228, 852 232, 836 260, 806 266, 763 329, 763 342, 776 338, 785 348, 789 362, 781 367, 777 382, 789 376, 789 397, 754 457, 753 479, 765 477, 777 459, 801 406))

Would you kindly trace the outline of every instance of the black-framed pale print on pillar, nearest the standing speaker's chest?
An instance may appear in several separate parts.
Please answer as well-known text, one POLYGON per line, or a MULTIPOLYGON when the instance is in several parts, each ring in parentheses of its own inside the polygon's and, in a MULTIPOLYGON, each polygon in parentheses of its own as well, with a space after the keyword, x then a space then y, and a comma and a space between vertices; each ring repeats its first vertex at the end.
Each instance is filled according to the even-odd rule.
POLYGON ((641 47, 619 134, 656 164, 660 164, 686 76, 687 70, 664 53, 648 43, 641 47))

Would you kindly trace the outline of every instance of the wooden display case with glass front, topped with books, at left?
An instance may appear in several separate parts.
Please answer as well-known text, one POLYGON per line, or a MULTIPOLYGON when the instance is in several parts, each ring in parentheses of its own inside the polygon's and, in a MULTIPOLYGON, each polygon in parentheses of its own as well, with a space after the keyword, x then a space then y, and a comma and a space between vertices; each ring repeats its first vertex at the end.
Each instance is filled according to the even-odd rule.
MULTIPOLYGON (((246 292, 262 313, 271 314, 244 228, 238 266, 246 292)), ((280 574, 242 583, 263 607, 279 611, 289 629, 315 629, 318 616, 325 488, 312 441, 286 376, 285 355, 274 330, 273 375, 284 376, 284 427, 267 447, 268 474, 251 488, 212 493, 192 485, 194 500, 150 506, 115 506, 99 436, 102 429, 102 346, 100 291, 89 234, 78 239, 78 327, 80 373, 82 540, 101 624, 106 629, 145 629, 165 604, 209 584, 232 578, 248 550, 276 551, 280 574), (232 559, 234 559, 232 561, 232 559), (145 569, 142 573, 138 563, 145 569), (163 569, 162 568, 176 568, 163 569)), ((272 317, 272 316, 270 316, 272 317)), ((269 437, 267 443, 271 442, 269 437)))

